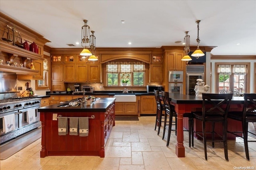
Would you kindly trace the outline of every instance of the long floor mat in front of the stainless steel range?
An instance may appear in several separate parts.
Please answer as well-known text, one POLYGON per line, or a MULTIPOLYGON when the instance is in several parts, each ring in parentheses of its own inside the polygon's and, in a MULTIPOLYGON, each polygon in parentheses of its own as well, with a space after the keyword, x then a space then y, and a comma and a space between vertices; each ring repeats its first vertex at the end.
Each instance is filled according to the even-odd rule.
POLYGON ((12 139, 0 146, 0 160, 5 160, 6 158, 12 156, 19 150, 22 150, 26 146, 30 145, 34 141, 38 140, 42 137, 42 127, 37 128, 33 131, 25 133, 17 137, 16 139, 12 139))

